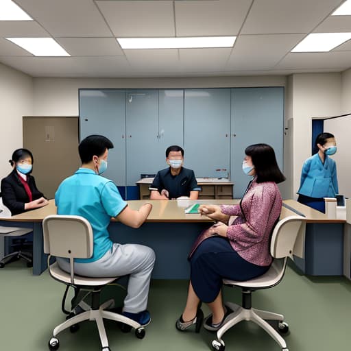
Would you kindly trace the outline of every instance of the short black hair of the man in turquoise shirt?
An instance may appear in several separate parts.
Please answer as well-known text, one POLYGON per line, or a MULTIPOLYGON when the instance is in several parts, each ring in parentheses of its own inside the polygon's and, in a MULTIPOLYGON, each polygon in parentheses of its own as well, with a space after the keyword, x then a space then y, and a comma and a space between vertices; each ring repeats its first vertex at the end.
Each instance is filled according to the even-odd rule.
POLYGON ((88 163, 93 160, 93 156, 102 156, 106 149, 113 149, 110 139, 102 135, 89 135, 80 142, 78 151, 82 163, 88 163))

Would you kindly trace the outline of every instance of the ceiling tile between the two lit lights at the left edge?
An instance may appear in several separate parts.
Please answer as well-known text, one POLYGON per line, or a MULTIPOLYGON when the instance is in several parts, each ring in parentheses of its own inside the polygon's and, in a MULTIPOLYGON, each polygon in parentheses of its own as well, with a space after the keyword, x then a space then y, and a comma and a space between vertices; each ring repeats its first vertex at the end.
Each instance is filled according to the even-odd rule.
POLYGON ((35 21, 0 21, 0 36, 49 36, 49 33, 35 21))

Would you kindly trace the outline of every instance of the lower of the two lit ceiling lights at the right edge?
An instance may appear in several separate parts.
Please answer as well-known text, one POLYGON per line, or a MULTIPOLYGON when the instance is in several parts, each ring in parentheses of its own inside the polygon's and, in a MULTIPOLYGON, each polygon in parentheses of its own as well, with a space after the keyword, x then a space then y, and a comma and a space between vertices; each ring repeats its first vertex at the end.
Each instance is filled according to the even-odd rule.
POLYGON ((330 51, 351 38, 351 33, 313 33, 308 34, 291 52, 330 51))

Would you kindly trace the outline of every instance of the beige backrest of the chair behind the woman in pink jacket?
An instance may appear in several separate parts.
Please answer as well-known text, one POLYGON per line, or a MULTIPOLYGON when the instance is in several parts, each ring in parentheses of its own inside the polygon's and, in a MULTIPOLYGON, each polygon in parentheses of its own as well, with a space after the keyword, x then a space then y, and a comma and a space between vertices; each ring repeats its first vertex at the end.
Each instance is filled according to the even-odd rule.
POLYGON ((271 235, 271 256, 292 258, 293 247, 303 222, 304 217, 301 216, 289 216, 278 221, 271 235))

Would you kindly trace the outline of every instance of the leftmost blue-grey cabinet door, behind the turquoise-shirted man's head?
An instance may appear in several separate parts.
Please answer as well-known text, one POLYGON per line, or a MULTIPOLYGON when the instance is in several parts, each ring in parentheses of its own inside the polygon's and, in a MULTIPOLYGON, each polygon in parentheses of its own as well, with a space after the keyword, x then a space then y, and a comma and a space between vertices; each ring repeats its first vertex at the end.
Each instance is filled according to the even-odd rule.
POLYGON ((117 89, 80 90, 80 140, 101 134, 112 141, 104 177, 125 186, 125 91, 117 89))

